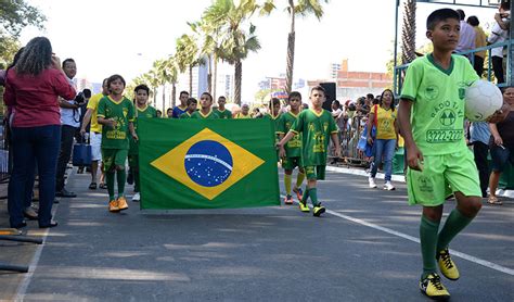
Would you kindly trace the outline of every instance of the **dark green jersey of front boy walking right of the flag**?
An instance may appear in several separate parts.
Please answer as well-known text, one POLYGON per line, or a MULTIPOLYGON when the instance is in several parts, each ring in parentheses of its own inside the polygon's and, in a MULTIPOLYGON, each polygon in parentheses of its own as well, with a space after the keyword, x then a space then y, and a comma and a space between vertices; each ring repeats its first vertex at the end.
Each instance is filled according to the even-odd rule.
POLYGON ((326 165, 326 150, 332 134, 337 134, 334 117, 326 110, 320 113, 304 110, 293 124, 291 131, 301 133, 304 166, 326 165))

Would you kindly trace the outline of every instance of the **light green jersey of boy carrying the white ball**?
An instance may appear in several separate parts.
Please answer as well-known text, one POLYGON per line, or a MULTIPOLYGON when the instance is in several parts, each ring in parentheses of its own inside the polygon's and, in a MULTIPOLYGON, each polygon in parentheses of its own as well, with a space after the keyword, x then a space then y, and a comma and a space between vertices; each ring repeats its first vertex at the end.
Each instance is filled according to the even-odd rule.
POLYGON ((478 75, 470 61, 452 55, 444 70, 433 54, 414 60, 407 70, 401 98, 413 101, 412 136, 424 155, 442 155, 466 149, 464 98, 478 75))

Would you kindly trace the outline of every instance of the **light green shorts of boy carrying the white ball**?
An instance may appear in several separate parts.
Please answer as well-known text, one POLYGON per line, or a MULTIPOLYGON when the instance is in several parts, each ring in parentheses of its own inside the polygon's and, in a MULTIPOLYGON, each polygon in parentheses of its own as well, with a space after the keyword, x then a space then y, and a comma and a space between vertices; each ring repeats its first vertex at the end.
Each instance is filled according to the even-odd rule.
POLYGON ((424 156, 423 171, 407 171, 409 204, 437 206, 453 192, 481 197, 472 151, 424 156))

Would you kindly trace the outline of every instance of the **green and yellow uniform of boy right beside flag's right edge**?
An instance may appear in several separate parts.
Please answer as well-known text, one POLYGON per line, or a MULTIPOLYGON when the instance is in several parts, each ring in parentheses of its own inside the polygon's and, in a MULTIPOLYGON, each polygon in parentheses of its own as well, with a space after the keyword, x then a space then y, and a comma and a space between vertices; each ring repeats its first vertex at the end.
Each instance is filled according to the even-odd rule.
MULTIPOLYGON (((295 115, 292 112, 283 113, 279 119, 277 134, 286 135, 298 118, 298 115, 295 115)), ((282 167, 284 169, 304 167, 301 162, 301 134, 296 134, 290 141, 287 141, 287 143, 284 146, 284 149, 285 158, 282 159, 282 167)))

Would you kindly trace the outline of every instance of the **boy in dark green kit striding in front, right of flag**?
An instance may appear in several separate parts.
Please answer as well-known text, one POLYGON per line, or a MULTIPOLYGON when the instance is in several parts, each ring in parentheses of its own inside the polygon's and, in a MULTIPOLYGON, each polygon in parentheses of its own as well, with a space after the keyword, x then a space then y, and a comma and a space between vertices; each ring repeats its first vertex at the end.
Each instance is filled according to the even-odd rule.
POLYGON ((312 108, 304 110, 293 124, 291 130, 277 144, 280 149, 280 156, 285 156, 284 144, 296 135, 303 135, 301 138, 301 159, 307 175, 307 188, 301 198, 303 206, 307 206, 307 199, 310 197, 313 206, 313 215, 320 216, 325 212, 325 207, 318 201, 317 180, 325 179, 326 149, 329 139, 335 146, 335 155, 340 156, 338 130, 332 114, 321 105, 325 100, 325 90, 321 86, 316 86, 310 91, 310 101, 312 108))

